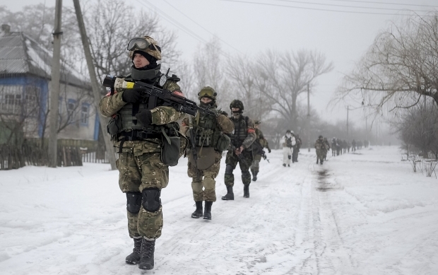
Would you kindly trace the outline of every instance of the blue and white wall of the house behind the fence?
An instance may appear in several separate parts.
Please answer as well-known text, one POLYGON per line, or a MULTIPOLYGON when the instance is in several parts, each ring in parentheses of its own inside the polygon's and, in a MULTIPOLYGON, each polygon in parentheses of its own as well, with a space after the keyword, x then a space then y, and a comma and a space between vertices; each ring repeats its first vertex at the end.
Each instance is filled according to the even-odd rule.
MULTIPOLYGON (((44 134, 48 139, 49 121, 47 119, 47 108, 49 101, 49 91, 51 82, 44 78, 34 76, 16 75, 0 77, 0 115, 4 121, 19 121, 23 117, 23 103, 34 104, 39 112, 32 112, 26 117, 21 136, 26 138, 41 138, 44 134), (34 88, 35 87, 35 88, 34 88), (29 90, 37 91, 39 99, 28 98, 29 90), (8 98, 6 98, 6 95, 8 98), (11 95, 16 95, 16 102, 11 103, 11 95), (23 101, 24 100, 24 101, 23 101), (3 105, 2 105, 3 104, 3 105), (5 115, 5 110, 10 110, 9 115, 5 115), (46 126, 45 126, 46 125, 46 126)), ((90 90, 78 88, 76 86, 61 83, 59 94, 59 125, 64 127, 59 134, 58 139, 76 139, 97 141, 99 134, 99 119, 96 116, 93 98, 90 96, 90 90)), ((1 120, 0 120, 1 121, 1 120)), ((8 134, 7 129, 0 125, 0 144, 4 143, 8 134)))

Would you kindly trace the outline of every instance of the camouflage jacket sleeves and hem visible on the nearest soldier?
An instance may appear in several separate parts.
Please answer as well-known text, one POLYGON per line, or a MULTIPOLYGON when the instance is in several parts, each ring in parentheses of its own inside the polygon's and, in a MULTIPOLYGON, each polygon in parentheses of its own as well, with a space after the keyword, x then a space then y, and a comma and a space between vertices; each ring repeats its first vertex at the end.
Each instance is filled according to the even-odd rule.
MULTIPOLYGON (((124 78, 131 80, 129 76, 124 78)), ((174 93, 181 93, 181 88, 175 81, 166 81, 162 86, 165 90, 170 90, 174 93)), ((104 117, 112 117, 116 115, 119 110, 126 104, 122 100, 122 95, 126 89, 121 87, 115 87, 114 95, 109 93, 105 95, 99 103, 99 111, 104 117)), ((183 112, 177 112, 173 107, 158 106, 150 110, 152 113, 152 124, 164 125, 170 122, 176 122, 179 119, 183 119, 185 114, 183 112)), ((115 139, 113 141, 114 147, 119 148, 121 139, 115 139)), ((134 156, 141 156, 143 153, 156 153, 161 151, 162 140, 161 139, 146 139, 141 141, 124 141, 122 144, 122 152, 134 153, 134 156), (147 141, 147 142, 146 142, 147 141)))

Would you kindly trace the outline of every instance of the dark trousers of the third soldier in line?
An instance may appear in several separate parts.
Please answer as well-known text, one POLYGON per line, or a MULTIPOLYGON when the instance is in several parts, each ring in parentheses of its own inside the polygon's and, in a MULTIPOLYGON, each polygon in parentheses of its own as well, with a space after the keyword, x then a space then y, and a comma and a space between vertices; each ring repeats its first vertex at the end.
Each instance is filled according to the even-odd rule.
POLYGON ((252 163, 252 151, 244 150, 242 152, 242 158, 239 158, 234 151, 230 150, 227 153, 227 158, 225 159, 225 185, 234 186, 235 185, 235 175, 232 173, 235 170, 237 163, 239 163, 240 170, 242 171, 242 182, 244 185, 249 185, 251 183, 251 174, 249 174, 249 167, 252 163))

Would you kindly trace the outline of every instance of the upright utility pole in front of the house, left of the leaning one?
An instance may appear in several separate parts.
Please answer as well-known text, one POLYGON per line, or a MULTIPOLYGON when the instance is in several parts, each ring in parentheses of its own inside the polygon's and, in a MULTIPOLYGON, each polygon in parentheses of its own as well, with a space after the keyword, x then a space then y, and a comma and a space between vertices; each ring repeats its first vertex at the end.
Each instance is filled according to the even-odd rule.
POLYGON ((58 153, 58 115, 59 115, 59 76, 61 72, 61 11, 62 0, 57 0, 55 6, 55 21, 53 32, 52 81, 50 83, 49 102, 49 167, 57 167, 58 153))

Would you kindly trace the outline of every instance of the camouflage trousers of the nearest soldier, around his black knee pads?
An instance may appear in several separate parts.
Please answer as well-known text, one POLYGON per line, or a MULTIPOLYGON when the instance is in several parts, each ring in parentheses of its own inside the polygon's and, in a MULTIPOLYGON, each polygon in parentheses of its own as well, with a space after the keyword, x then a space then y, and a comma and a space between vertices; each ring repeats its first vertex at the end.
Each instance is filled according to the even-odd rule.
MULTIPOLYGON (((169 182, 169 168, 160 160, 160 153, 120 153, 116 162, 119 169, 119 187, 122 192, 142 192, 145 188, 165 188, 169 182)), ((131 238, 140 236, 157 239, 162 230, 162 206, 155 212, 143 205, 138 213, 128 213, 128 231, 131 238)))

